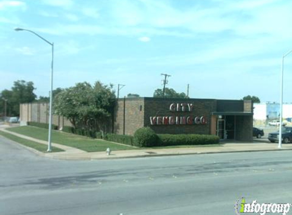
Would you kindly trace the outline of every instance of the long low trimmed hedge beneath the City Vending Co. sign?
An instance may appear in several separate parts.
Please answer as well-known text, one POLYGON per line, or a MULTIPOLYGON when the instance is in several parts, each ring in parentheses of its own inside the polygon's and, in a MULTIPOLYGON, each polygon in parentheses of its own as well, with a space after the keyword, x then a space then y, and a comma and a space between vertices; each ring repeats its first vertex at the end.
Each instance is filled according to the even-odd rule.
POLYGON ((156 146, 176 145, 207 145, 218 144, 219 137, 215 135, 157 135, 156 146))

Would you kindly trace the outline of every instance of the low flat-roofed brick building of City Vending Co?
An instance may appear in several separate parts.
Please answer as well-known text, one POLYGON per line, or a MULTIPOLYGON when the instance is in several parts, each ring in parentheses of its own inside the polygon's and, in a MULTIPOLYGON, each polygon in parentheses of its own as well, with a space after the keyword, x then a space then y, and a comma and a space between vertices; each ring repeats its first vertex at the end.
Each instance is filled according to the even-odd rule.
MULTIPOLYGON (((47 103, 20 105, 20 121, 48 123, 47 103)), ((61 128, 71 123, 53 116, 61 128)), ((144 126, 156 133, 197 133, 217 135, 220 139, 252 141, 253 104, 243 100, 121 98, 107 126, 108 132, 133 135, 144 126)))

